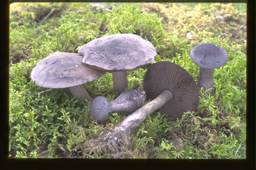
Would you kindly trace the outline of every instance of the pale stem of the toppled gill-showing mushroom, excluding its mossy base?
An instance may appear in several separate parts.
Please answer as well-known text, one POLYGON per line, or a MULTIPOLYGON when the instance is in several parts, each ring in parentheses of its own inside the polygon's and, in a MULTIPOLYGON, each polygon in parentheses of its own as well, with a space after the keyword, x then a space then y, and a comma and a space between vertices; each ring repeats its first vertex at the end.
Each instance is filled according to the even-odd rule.
POLYGON ((144 106, 137 109, 131 115, 127 116, 117 128, 120 128, 124 132, 132 132, 133 129, 137 128, 141 122, 151 113, 164 106, 169 100, 172 100, 174 94, 169 90, 162 91, 155 99, 145 104, 144 106))

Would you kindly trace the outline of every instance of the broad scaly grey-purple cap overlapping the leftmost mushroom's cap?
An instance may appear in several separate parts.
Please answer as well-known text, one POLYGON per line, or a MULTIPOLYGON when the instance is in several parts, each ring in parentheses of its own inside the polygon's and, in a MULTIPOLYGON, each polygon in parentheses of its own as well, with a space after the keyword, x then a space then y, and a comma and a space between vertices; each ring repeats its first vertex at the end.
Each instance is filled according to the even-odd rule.
POLYGON ((156 49, 138 35, 112 34, 88 42, 78 54, 87 66, 112 72, 147 66, 155 60, 156 49))

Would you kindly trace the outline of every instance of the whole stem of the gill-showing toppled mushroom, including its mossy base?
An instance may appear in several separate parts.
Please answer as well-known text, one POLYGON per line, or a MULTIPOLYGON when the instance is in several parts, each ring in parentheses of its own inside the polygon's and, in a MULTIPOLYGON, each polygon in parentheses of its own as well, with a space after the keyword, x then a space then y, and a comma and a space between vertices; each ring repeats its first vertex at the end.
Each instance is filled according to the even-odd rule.
POLYGON ((173 94, 169 90, 162 91, 158 97, 151 102, 137 109, 131 115, 127 116, 118 126, 111 132, 105 133, 95 141, 92 148, 97 148, 104 154, 117 154, 118 152, 127 152, 131 148, 130 133, 137 128, 139 124, 146 119, 148 115, 162 107, 169 100, 172 100, 173 94))

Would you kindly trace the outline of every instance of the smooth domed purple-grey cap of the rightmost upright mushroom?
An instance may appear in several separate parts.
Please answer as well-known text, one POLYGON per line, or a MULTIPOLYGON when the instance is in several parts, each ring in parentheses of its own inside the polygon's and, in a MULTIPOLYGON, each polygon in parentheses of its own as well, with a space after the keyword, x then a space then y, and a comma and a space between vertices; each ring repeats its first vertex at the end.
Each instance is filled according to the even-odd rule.
POLYGON ((196 45, 190 52, 193 63, 202 68, 219 68, 228 61, 228 54, 214 43, 196 45))

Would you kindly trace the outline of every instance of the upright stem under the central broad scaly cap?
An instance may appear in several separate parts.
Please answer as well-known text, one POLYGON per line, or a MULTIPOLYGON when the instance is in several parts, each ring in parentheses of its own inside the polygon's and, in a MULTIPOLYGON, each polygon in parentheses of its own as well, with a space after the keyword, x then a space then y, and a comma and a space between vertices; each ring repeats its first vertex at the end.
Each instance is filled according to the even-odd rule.
POLYGON ((128 88, 127 71, 114 71, 112 74, 114 94, 119 95, 128 88))

